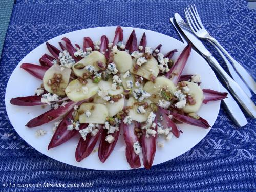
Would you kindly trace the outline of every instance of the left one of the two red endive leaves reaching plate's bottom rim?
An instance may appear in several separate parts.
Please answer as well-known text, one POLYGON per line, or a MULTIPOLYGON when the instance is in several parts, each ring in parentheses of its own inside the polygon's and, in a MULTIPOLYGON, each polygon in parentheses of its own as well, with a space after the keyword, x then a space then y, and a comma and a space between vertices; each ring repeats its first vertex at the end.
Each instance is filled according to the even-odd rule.
MULTIPOLYGON (((127 162, 131 166, 131 168, 138 168, 141 166, 140 157, 134 152, 133 145, 135 142, 139 141, 137 136, 134 133, 136 122, 132 122, 131 124, 121 123, 120 127, 123 129, 123 137, 126 143, 125 155, 127 162)), ((138 127, 139 128, 139 127, 138 127)))

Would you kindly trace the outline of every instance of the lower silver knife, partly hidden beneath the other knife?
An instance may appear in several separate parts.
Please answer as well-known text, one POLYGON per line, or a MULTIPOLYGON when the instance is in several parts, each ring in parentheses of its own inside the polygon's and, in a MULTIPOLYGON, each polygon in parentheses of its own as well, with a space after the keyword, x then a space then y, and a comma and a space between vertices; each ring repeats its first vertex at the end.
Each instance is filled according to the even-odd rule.
MULTIPOLYGON (((170 18, 170 22, 172 22, 172 24, 174 25, 176 31, 180 35, 184 44, 188 44, 189 41, 187 40, 184 33, 181 31, 180 27, 176 23, 175 18, 170 18)), ((198 52, 198 50, 196 50, 196 51, 198 52)), ((234 100, 234 98, 230 95, 230 93, 227 91, 227 89, 224 86, 222 86, 222 84, 220 82, 219 82, 219 85, 220 85, 221 92, 228 93, 228 98, 224 99, 222 101, 222 103, 224 104, 225 109, 227 110, 227 113, 231 117, 232 121, 239 127, 245 126, 248 122, 247 122, 247 119, 245 118, 242 110, 240 109, 239 105, 234 100)))

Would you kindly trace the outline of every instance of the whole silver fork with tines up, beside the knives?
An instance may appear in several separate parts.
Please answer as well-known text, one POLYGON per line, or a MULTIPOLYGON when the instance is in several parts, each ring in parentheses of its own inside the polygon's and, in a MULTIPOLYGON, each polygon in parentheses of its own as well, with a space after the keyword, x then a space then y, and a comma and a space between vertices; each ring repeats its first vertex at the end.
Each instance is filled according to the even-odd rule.
POLYGON ((186 19, 188 22, 189 27, 193 31, 193 33, 201 39, 206 39, 212 43, 214 43, 216 46, 220 48, 220 50, 227 55, 231 63, 233 64, 236 71, 239 73, 241 78, 244 80, 244 82, 247 84, 247 86, 256 93, 256 83, 254 79, 250 76, 250 74, 243 68, 243 66, 240 65, 234 58, 219 44, 219 42, 210 34, 208 31, 204 28, 204 25, 201 22, 201 19, 199 17, 197 8, 195 5, 190 5, 184 9, 186 19))

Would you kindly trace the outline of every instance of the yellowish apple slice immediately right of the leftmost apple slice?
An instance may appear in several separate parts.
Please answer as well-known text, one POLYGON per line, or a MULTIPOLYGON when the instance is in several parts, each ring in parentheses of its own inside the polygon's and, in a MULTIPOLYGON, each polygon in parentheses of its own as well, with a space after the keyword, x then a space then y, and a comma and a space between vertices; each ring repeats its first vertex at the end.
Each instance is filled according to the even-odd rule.
POLYGON ((82 84, 78 79, 71 81, 65 92, 72 101, 81 101, 94 96, 99 89, 97 83, 93 83, 91 79, 87 79, 87 84, 82 84))

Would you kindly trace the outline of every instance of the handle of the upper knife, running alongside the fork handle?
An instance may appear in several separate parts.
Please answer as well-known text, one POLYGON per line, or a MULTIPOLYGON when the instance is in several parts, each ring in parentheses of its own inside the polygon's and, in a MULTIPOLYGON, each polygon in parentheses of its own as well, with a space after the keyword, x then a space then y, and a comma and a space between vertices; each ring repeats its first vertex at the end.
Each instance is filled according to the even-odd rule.
POLYGON ((227 88, 241 104, 245 112, 253 118, 256 118, 256 106, 251 101, 251 99, 246 95, 246 93, 239 87, 239 85, 224 71, 220 66, 218 61, 213 56, 207 56, 207 60, 210 62, 211 66, 214 67, 219 75, 224 80, 227 88))

